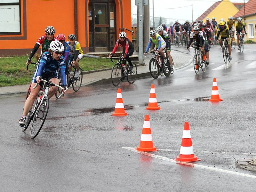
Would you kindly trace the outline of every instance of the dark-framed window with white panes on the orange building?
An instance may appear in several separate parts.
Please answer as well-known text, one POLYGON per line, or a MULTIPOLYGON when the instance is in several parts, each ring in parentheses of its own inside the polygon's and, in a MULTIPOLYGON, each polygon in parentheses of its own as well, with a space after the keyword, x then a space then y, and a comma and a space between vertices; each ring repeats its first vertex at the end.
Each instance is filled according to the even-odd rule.
POLYGON ((21 34, 20 0, 0 0, 0 34, 21 34))

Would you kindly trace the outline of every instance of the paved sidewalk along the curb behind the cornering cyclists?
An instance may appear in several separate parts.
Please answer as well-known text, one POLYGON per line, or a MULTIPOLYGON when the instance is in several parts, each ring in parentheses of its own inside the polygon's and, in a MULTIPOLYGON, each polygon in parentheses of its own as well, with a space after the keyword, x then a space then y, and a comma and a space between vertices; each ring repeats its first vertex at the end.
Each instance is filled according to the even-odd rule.
MULTIPOLYGON (((171 52, 172 59, 174 62, 174 73, 177 73, 177 69, 183 68, 188 66, 191 62, 193 57, 186 53, 184 49, 180 49, 179 51, 172 50, 171 52)), ((149 58, 144 58, 145 65, 140 65, 137 67, 137 78, 150 76, 149 73, 149 58)), ((113 63, 114 65, 114 63, 113 63)), ((151 76, 150 76, 151 77, 151 76)), ((93 85, 93 84, 106 84, 111 83, 111 70, 93 70, 90 72, 86 72, 83 74, 83 83, 82 86, 86 85, 93 85)), ((29 84, 26 85, 15 85, 15 86, 7 86, 7 87, 0 87, 0 95, 7 95, 7 94, 20 94, 25 93, 28 91, 29 84)))

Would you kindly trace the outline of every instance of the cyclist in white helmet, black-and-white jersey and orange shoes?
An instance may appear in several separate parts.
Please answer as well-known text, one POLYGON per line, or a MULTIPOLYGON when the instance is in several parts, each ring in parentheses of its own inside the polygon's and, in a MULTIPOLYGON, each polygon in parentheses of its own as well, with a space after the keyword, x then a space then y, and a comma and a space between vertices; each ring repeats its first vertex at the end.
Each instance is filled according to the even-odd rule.
MULTIPOLYGON (((204 41, 205 41, 205 38, 204 38, 204 32, 203 31, 199 31, 200 27, 198 25, 194 25, 193 27, 193 30, 191 33, 190 33, 190 39, 189 39, 189 42, 188 42, 188 51, 189 51, 189 46, 190 44, 192 43, 193 40, 196 41, 196 47, 199 47, 200 46, 200 50, 202 51, 202 54, 203 54, 203 61, 206 60, 206 56, 205 56, 205 52, 204 52, 204 41)), ((195 66, 196 69, 198 69, 198 64, 196 64, 195 66)))

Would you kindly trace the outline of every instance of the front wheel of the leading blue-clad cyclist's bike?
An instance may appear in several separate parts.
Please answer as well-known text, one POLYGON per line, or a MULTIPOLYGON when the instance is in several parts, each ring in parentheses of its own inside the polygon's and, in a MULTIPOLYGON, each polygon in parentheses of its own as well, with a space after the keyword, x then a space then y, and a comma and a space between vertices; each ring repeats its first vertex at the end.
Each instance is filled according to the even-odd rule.
POLYGON ((34 139, 42 129, 48 113, 49 105, 50 105, 49 98, 43 97, 41 102, 36 107, 36 111, 34 112, 34 115, 32 117, 32 124, 30 127, 31 139, 34 139))

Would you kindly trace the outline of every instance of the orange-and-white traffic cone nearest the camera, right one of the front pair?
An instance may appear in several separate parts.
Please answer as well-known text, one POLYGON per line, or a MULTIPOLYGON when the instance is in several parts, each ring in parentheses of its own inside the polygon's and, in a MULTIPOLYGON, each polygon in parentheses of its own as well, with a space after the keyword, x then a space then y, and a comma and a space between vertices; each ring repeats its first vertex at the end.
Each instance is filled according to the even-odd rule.
POLYGON ((184 130, 181 140, 180 146, 180 155, 174 159, 176 161, 183 161, 183 162, 191 162, 191 161, 200 161, 201 159, 197 159, 197 156, 194 156, 192 140, 189 130, 188 122, 184 124, 184 130))

